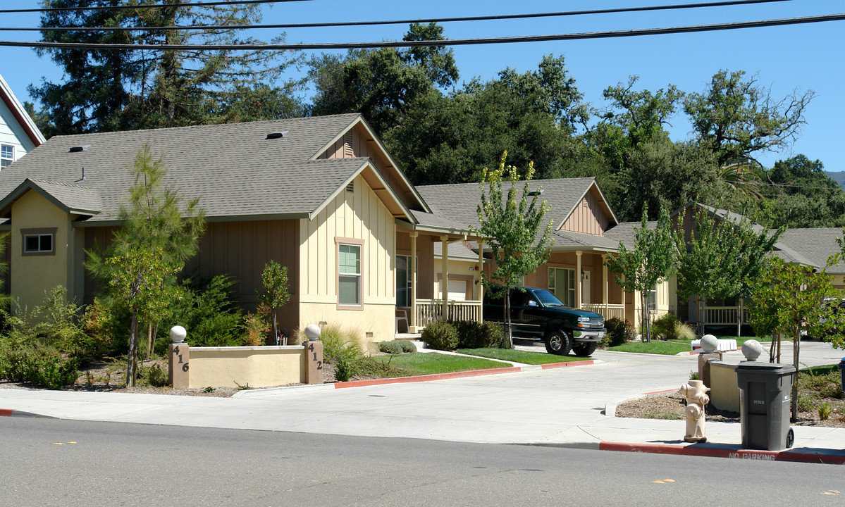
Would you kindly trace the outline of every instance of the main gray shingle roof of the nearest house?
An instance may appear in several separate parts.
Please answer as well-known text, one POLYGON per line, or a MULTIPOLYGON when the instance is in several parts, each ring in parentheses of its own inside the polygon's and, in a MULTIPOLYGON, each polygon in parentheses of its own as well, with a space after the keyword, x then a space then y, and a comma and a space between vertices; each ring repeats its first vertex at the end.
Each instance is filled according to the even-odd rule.
MULTIPOLYGON (((165 184, 185 200, 199 197, 206 216, 237 217, 310 213, 367 159, 312 160, 360 117, 358 114, 57 136, 0 173, 0 196, 25 178, 67 186, 85 168, 85 187, 97 191, 102 213, 117 218, 134 183, 130 169, 144 143, 169 168, 165 184), (287 131, 285 138, 266 139, 287 131), (86 151, 68 153, 73 146, 86 151)), ((58 187, 53 187, 58 191, 58 187)))

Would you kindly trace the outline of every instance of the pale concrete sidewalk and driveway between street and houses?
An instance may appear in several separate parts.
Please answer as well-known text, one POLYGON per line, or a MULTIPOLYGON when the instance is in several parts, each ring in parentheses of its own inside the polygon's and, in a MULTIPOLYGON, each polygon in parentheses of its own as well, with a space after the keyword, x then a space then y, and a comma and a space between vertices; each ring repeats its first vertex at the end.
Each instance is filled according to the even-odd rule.
MULTIPOLYGON (((813 364, 842 356, 825 343, 802 345, 802 357, 813 364)), ((594 357, 596 364, 572 368, 241 391, 232 398, 0 389, 0 408, 110 422, 845 462, 845 429, 793 427, 793 450, 771 453, 740 451, 739 423, 707 423, 709 443, 689 445, 684 421, 611 417, 606 408, 615 403, 677 389, 697 358, 603 351, 594 357)))

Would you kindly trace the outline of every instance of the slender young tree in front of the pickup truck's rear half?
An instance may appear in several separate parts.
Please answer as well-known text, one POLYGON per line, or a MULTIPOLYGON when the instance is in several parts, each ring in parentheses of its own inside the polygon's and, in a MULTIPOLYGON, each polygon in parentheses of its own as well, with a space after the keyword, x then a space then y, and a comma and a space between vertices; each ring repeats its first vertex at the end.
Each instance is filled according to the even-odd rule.
POLYGON ((532 192, 529 185, 534 165, 528 165, 523 182, 514 166, 505 165, 507 157, 508 152, 504 152, 499 169, 483 171, 481 204, 477 208, 481 226, 475 232, 486 238, 492 251, 493 272, 490 276, 482 272, 482 281, 493 295, 504 293, 504 332, 509 348, 514 348, 510 293, 522 277, 546 262, 553 238, 551 220, 542 229, 542 218, 549 206, 545 201, 537 202, 539 194, 532 192), (503 186, 507 187, 506 195, 503 186))

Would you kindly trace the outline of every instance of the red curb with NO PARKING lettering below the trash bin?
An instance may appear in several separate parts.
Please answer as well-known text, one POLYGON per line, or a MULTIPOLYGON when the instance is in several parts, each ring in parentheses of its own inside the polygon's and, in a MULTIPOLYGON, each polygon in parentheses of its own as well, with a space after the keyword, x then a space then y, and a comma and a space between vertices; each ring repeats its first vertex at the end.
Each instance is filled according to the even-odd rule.
POLYGON ((845 454, 811 454, 794 450, 750 450, 739 447, 701 447, 700 445, 624 444, 622 442, 600 442, 599 450, 620 452, 648 452, 679 456, 707 456, 760 461, 799 461, 845 465, 845 454))

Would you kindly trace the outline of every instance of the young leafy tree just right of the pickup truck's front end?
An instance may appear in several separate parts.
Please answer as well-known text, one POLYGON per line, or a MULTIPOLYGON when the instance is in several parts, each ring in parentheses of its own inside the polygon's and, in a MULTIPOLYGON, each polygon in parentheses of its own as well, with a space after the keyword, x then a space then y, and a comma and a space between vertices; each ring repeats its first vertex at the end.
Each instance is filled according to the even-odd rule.
POLYGON ((619 254, 608 256, 605 264, 614 273, 616 283, 625 292, 639 292, 642 308, 642 330, 646 342, 651 342, 651 315, 648 310, 648 293, 657 284, 672 276, 677 254, 672 240, 672 223, 661 208, 657 227, 648 227, 648 208, 643 208, 640 229, 635 229, 631 250, 619 243, 619 254), (621 276, 620 276, 621 275, 621 276))

